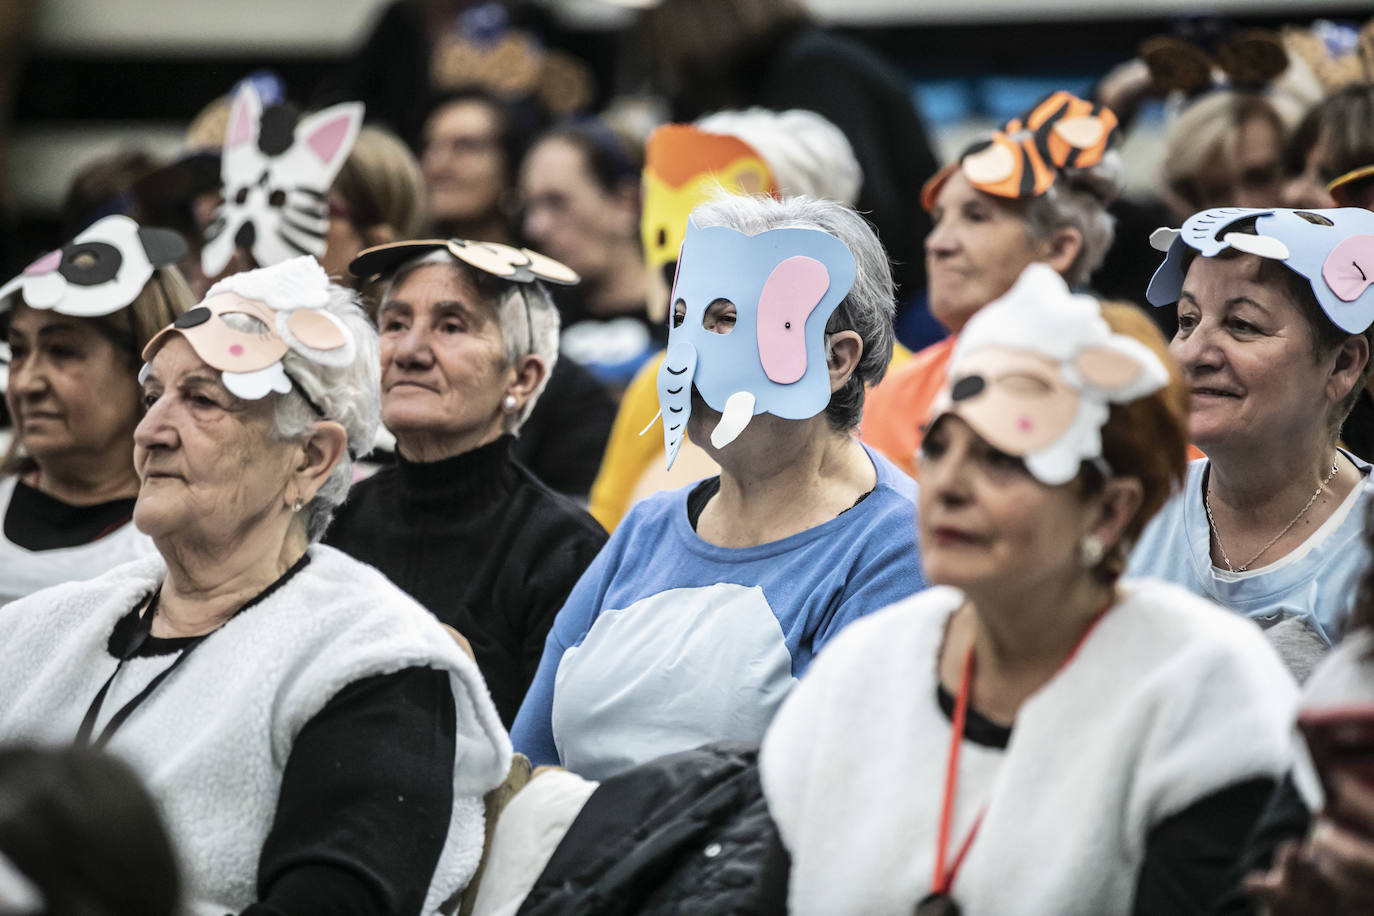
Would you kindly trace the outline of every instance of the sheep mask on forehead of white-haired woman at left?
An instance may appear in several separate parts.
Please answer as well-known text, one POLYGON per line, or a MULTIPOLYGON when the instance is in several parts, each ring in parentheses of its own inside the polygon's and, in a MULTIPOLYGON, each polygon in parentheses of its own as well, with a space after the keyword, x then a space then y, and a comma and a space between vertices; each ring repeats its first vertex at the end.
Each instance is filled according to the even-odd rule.
MULTIPOLYGON (((168 338, 180 334, 206 365, 220 369, 224 387, 235 397, 257 401, 294 387, 323 417, 323 391, 308 393, 282 360, 295 352, 320 365, 345 367, 353 361, 357 342, 346 324, 324 310, 328 298, 330 279, 311 257, 235 273, 212 286, 201 305, 158 331, 143 347, 143 358, 151 363, 168 338), (250 328, 235 328, 224 320, 229 314, 250 319, 250 328)), ((140 382, 147 371, 144 365, 140 382)))

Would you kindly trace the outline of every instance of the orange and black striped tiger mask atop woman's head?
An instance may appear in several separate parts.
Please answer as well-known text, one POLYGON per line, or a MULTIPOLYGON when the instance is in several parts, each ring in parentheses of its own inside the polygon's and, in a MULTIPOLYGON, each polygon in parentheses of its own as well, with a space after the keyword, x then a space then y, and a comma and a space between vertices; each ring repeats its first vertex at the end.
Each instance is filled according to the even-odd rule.
POLYGON ((1037 198, 1063 169, 1087 169, 1101 162, 1118 133, 1112 108, 1059 89, 937 172, 921 190, 921 206, 934 207, 940 188, 956 169, 985 194, 1037 198))

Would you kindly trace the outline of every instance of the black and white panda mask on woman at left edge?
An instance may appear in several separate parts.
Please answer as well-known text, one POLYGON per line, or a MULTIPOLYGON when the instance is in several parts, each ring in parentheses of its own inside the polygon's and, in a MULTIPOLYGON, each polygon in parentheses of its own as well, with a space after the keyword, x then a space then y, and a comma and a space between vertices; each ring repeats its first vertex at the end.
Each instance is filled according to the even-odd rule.
POLYGON ((107 216, 0 287, 0 312, 8 310, 19 293, 33 309, 77 319, 110 314, 133 302, 157 268, 185 254, 185 240, 172 229, 107 216))

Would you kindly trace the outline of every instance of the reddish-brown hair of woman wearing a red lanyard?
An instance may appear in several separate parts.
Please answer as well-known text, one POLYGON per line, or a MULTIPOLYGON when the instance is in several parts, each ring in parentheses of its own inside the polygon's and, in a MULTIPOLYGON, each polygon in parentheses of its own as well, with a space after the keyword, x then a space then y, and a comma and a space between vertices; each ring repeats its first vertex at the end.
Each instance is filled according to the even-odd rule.
MULTIPOLYGON (((1113 332, 1150 347, 1169 371, 1169 383, 1158 391, 1128 404, 1113 404, 1102 427, 1102 457, 1112 472, 1134 477, 1145 489, 1140 508, 1127 525, 1121 541, 1094 570, 1103 580, 1114 581, 1125 570, 1127 553, 1146 523, 1183 483, 1189 461, 1189 386, 1178 361, 1169 354, 1164 335, 1139 306, 1103 302, 1102 317, 1113 332)), ((1085 494, 1101 492, 1102 475, 1091 464, 1084 464, 1081 479, 1085 494)))

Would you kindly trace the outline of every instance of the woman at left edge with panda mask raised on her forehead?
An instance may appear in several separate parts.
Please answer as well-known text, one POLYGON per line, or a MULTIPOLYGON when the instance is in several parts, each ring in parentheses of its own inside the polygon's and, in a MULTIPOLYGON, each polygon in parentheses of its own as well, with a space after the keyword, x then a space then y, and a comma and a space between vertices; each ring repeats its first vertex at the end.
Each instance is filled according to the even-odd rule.
POLYGON ((181 236, 92 224, 0 288, 14 439, 0 464, 0 604, 153 552, 131 525, 139 353, 185 312, 181 236))

